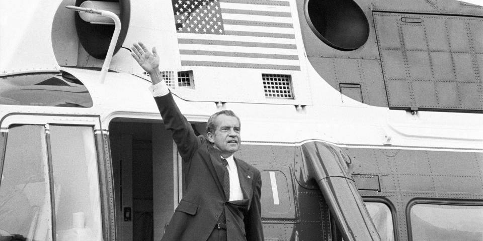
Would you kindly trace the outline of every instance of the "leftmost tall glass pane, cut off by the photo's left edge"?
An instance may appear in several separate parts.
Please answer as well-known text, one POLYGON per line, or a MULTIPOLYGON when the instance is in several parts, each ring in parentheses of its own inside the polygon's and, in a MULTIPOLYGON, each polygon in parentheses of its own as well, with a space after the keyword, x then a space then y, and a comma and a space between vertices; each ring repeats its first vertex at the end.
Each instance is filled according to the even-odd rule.
POLYGON ((44 127, 11 127, 5 151, 0 182, 0 237, 18 234, 27 240, 52 240, 44 127))

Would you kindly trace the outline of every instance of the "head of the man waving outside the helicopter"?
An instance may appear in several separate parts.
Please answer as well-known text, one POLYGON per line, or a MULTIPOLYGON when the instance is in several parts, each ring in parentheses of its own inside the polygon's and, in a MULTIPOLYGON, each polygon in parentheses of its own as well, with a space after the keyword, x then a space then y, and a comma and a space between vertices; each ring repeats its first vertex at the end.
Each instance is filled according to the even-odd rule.
POLYGON ((215 132, 207 134, 208 140, 221 152, 221 156, 229 157, 240 148, 240 123, 234 116, 220 114, 215 119, 215 132))

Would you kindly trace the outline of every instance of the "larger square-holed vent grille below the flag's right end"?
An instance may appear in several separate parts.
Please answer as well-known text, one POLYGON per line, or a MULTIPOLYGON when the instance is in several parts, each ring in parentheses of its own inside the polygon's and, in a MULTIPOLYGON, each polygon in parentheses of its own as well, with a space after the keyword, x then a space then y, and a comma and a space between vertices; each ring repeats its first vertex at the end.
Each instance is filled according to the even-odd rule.
POLYGON ((262 74, 265 97, 293 99, 292 76, 287 74, 262 74))

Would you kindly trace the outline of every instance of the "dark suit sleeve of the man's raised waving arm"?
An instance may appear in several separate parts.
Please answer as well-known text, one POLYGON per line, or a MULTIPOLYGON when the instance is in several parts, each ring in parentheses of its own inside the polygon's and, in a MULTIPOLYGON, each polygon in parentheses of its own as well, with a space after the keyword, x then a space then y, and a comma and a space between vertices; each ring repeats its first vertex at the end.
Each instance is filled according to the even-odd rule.
POLYGON ((163 117, 166 129, 173 134, 173 140, 178 145, 181 157, 185 161, 190 160, 201 143, 200 139, 195 135, 191 124, 176 105, 171 92, 154 97, 154 100, 163 117))

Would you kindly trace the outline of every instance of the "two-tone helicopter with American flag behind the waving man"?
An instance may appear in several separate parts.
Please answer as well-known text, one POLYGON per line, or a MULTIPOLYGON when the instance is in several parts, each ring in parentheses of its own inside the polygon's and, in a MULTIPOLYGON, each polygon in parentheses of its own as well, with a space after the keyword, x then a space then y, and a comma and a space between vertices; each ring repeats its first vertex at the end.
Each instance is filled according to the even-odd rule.
POLYGON ((454 0, 0 2, 0 240, 159 240, 231 109, 265 240, 483 238, 483 7, 454 0), (11 240, 11 239, 9 239, 11 240))

